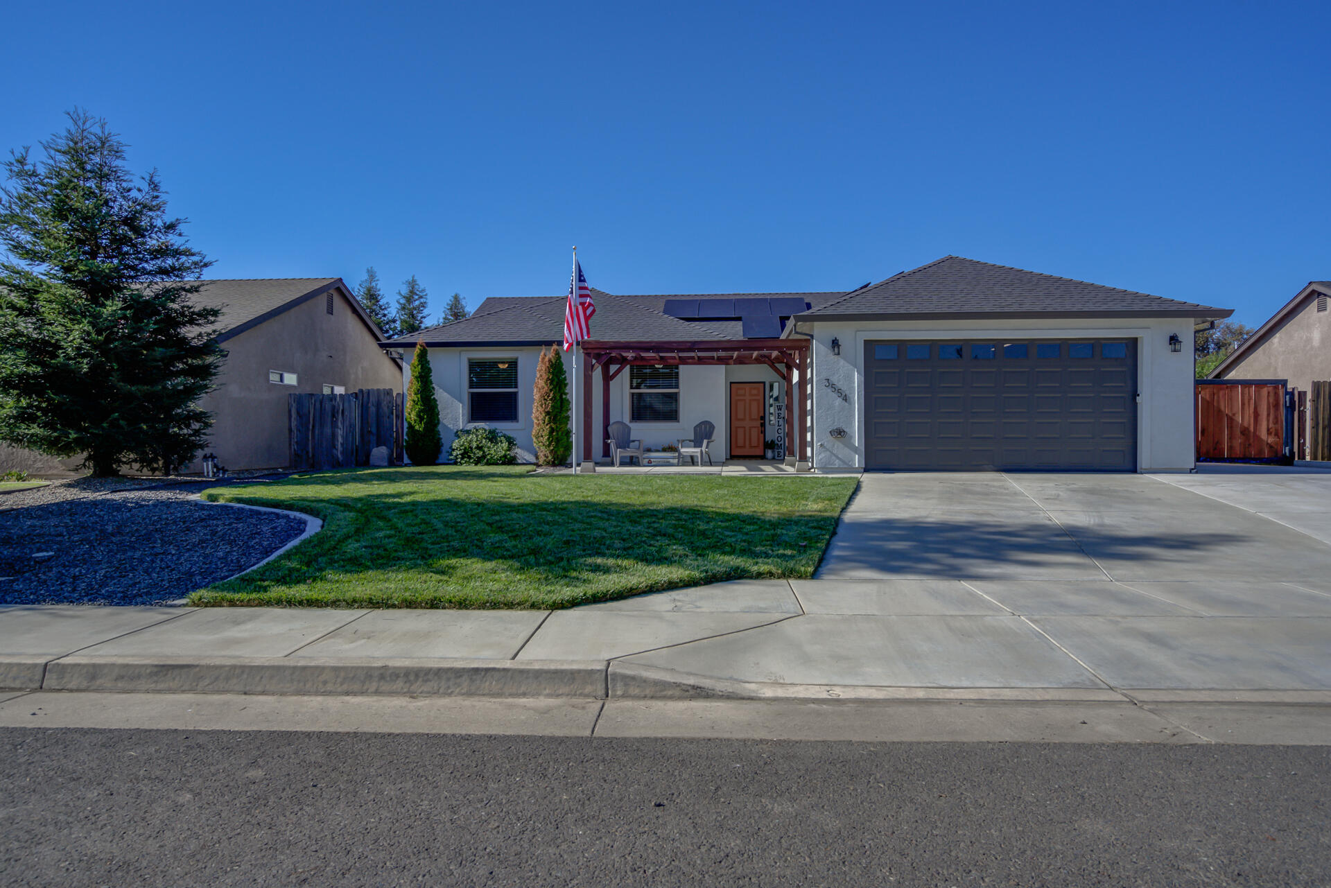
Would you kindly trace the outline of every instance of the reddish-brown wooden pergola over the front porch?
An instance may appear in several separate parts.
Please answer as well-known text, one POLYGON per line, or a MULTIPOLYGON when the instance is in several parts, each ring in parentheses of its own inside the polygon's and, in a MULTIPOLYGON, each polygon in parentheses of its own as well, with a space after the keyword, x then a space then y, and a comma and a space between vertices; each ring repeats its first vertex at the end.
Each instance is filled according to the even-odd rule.
POLYGON ((602 455, 610 455, 610 382, 626 367, 632 366, 729 366, 760 363, 772 367, 785 382, 785 441, 787 455, 799 441, 799 462, 809 459, 808 401, 809 401, 809 341, 808 339, 697 339, 679 342, 606 342, 583 339, 579 346, 587 357, 582 362, 582 459, 592 459, 592 374, 600 369, 602 455), (799 397, 795 386, 799 377, 799 397), (796 421, 799 410, 799 421, 796 421), (799 434, 796 434, 799 429, 799 434))

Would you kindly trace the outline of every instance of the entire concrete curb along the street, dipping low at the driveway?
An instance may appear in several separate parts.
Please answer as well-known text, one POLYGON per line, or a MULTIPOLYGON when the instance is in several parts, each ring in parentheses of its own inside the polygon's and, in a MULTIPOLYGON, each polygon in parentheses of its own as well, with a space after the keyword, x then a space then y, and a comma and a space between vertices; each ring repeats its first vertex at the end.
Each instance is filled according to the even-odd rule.
POLYGON ((0 655, 5 691, 418 695, 823 703, 1127 703, 1327 706, 1331 690, 881 687, 736 682, 619 660, 315 656, 0 655))

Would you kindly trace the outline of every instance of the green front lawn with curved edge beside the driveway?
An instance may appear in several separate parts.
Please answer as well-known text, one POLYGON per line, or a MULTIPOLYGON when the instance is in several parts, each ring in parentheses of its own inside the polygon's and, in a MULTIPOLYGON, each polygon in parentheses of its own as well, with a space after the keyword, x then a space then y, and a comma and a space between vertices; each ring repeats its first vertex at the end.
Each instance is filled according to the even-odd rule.
POLYGON ((568 607, 751 576, 809 576, 852 478, 353 469, 217 487, 323 530, 192 604, 568 607))

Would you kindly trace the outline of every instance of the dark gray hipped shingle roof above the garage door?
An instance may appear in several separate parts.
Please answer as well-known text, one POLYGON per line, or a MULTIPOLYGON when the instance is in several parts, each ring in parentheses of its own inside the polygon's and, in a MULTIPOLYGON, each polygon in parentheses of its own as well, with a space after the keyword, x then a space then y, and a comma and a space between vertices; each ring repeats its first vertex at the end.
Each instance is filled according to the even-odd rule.
POLYGON ((957 316, 1225 318, 1230 314, 1233 309, 945 256, 813 308, 800 320, 957 316))

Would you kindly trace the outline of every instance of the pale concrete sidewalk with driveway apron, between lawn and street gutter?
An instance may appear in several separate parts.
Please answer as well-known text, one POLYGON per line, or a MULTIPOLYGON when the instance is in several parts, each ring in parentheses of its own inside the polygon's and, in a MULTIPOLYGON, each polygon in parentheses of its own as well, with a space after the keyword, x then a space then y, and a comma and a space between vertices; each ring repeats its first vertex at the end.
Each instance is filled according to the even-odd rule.
POLYGON ((1331 586, 741 580, 564 611, 8 607, 0 687, 1331 703, 1331 586))

